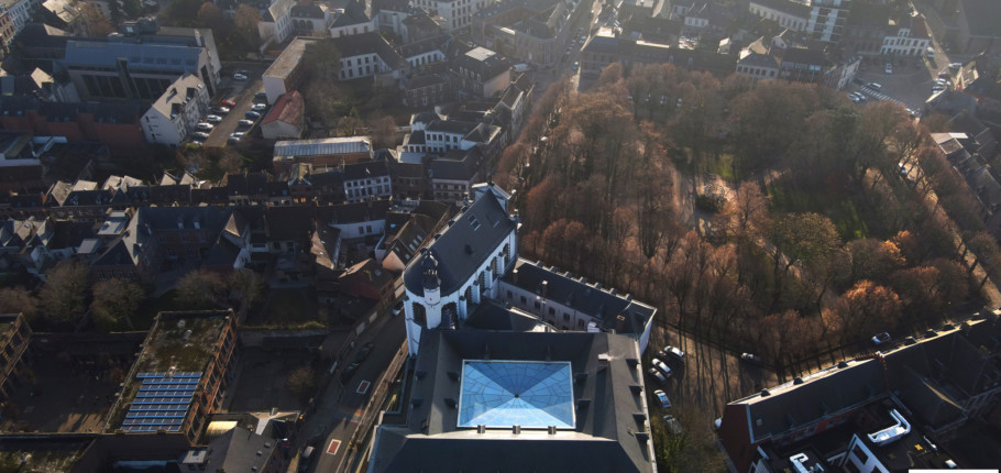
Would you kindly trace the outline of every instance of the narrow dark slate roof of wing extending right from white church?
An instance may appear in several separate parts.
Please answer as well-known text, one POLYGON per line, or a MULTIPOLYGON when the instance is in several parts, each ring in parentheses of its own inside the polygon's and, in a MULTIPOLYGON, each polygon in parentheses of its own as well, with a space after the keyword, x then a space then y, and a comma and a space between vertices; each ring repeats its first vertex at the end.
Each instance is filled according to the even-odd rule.
POLYGON ((587 284, 585 279, 574 278, 568 273, 560 273, 552 267, 518 258, 515 268, 505 274, 501 280, 521 289, 540 293, 542 282, 547 282, 544 297, 604 321, 604 328, 619 333, 639 334, 653 318, 657 309, 634 300, 630 296, 602 289, 601 285, 587 284), (517 280, 514 271, 517 271, 517 280), (626 318, 619 322, 618 316, 626 318))

